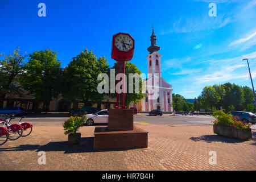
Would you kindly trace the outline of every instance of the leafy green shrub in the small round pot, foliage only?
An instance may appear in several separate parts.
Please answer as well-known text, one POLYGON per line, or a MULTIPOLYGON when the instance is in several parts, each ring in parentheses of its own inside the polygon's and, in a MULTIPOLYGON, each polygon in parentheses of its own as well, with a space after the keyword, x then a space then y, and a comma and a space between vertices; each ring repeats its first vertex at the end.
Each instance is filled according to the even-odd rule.
MULTIPOLYGON (((85 118, 86 119, 86 118, 85 118)), ((87 119, 86 119, 87 120, 87 119)), ((71 117, 67 121, 64 122, 64 134, 74 134, 79 130, 81 126, 84 125, 84 118, 81 117, 71 117)))

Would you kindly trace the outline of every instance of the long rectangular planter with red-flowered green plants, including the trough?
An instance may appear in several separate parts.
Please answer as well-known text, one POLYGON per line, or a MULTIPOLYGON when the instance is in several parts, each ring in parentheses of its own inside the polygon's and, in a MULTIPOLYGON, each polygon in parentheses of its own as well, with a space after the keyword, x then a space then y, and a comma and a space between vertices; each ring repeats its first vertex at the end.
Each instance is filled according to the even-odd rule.
POLYGON ((251 124, 244 123, 238 120, 238 117, 232 117, 230 114, 225 114, 224 111, 218 110, 213 112, 213 117, 216 118, 213 125, 213 132, 225 137, 238 139, 251 139, 251 124))

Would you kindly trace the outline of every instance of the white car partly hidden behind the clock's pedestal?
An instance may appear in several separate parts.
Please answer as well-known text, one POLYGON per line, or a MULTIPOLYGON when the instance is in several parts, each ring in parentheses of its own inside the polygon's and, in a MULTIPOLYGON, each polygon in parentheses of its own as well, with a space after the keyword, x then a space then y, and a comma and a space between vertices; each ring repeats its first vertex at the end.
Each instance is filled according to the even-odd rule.
POLYGON ((84 123, 88 126, 91 126, 94 123, 108 123, 109 111, 108 109, 103 109, 94 114, 86 114, 85 117, 88 117, 88 119, 84 121, 84 123))

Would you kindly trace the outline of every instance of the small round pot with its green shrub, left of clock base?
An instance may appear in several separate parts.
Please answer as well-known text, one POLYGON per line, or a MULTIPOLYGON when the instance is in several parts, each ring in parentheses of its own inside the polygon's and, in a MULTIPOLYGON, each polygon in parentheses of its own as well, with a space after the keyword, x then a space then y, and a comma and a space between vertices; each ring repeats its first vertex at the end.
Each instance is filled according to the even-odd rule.
POLYGON ((84 118, 82 117, 71 117, 64 122, 64 134, 68 134, 68 144, 79 144, 81 140, 81 133, 77 133, 77 131, 83 125, 84 118))

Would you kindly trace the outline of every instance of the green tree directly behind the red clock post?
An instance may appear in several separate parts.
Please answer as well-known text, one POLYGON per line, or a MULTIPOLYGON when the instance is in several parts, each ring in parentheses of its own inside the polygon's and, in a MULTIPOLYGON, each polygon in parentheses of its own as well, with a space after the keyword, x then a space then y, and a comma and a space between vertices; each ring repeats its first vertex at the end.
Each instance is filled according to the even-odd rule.
MULTIPOLYGON (((118 63, 115 62, 112 69, 115 69, 115 76, 117 75, 118 70, 118 63)), ((120 70, 122 71, 122 64, 120 67, 120 70)), ((142 72, 136 67, 135 64, 129 63, 128 61, 125 62, 125 75, 126 75, 126 82, 127 82, 127 93, 125 94, 125 105, 129 106, 131 102, 134 104, 137 104, 138 102, 141 102, 143 98, 147 96, 147 94, 143 93, 143 80, 141 77, 139 77, 139 93, 135 93, 135 78, 133 78, 133 82, 129 82, 129 73, 138 74, 141 75, 142 72), (133 85, 133 93, 129 93, 129 85, 133 85)), ((109 69, 109 77, 110 77, 110 69, 109 69)), ((117 84, 117 81, 115 81, 115 85, 117 84)), ((116 97, 115 94, 109 94, 111 97, 116 97)))

